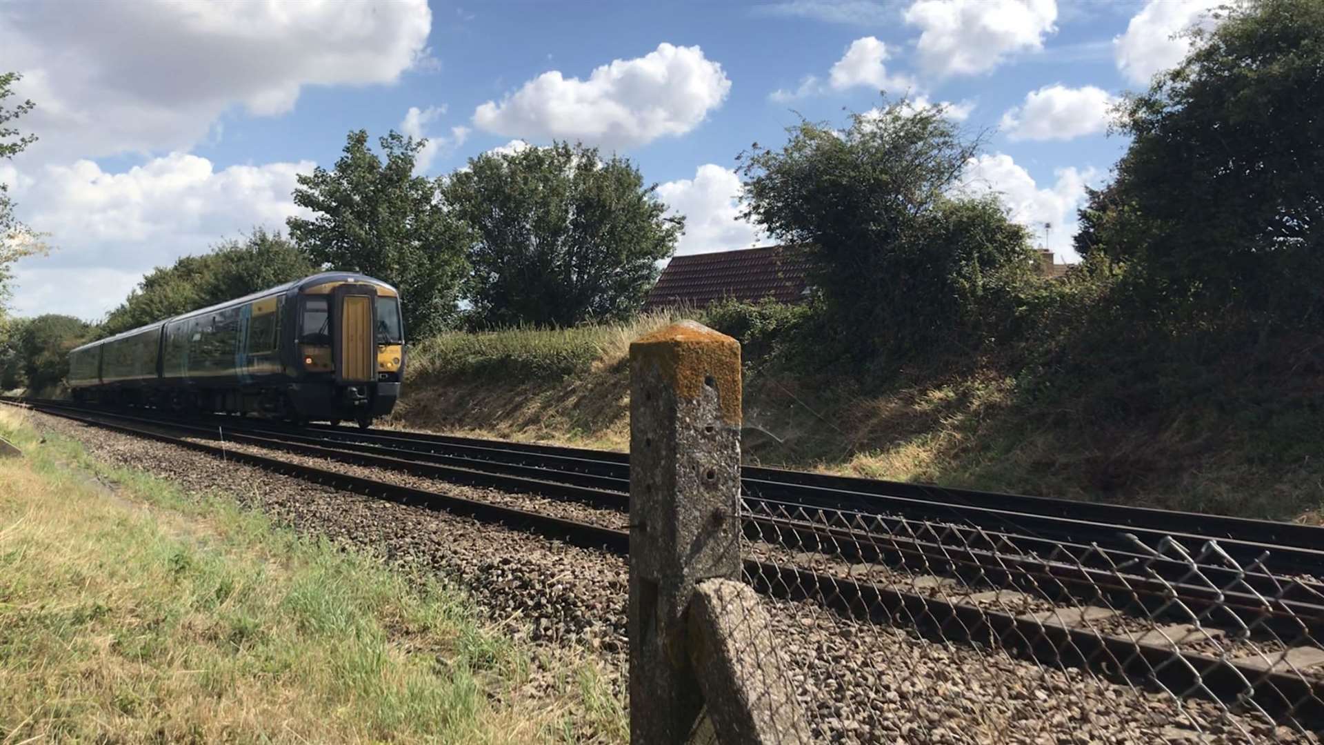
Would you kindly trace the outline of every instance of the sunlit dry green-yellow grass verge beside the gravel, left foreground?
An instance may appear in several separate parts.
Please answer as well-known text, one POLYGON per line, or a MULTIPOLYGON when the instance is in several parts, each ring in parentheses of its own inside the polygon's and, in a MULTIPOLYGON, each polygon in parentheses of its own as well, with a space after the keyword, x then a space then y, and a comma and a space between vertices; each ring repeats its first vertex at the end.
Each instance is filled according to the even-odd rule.
POLYGON ((551 700, 524 696, 531 651, 457 589, 110 468, 15 412, 0 742, 625 738, 587 663, 553 663, 551 700))

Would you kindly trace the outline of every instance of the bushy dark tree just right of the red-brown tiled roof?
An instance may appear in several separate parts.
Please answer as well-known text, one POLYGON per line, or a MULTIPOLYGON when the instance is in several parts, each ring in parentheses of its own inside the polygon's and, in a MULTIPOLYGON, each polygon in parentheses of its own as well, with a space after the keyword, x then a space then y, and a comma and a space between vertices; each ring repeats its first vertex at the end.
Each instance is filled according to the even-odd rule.
MULTIPOLYGON (((830 327, 857 357, 989 333, 994 298, 1033 266, 996 198, 960 195, 978 150, 941 107, 895 101, 850 126, 802 121, 741 154, 745 215, 810 252, 830 327)), ((1001 308, 1000 310, 1008 310, 1001 308)))

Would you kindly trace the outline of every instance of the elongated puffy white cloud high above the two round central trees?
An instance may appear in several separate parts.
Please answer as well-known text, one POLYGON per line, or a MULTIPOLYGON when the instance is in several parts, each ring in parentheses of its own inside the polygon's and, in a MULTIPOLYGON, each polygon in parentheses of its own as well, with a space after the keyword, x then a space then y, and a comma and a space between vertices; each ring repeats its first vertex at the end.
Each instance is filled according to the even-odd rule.
POLYGON ((507 137, 630 147, 698 127, 730 90, 722 65, 702 49, 663 42, 643 57, 602 65, 588 80, 543 73, 499 103, 478 106, 474 125, 507 137))

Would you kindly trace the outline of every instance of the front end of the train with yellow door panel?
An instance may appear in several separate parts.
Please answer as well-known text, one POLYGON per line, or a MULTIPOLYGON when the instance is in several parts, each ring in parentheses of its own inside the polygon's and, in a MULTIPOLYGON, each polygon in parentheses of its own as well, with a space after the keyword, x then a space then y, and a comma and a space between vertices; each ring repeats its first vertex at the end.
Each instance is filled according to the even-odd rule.
POLYGON ((391 414, 404 375, 400 293, 361 274, 318 276, 295 294, 295 419, 355 420, 391 414))

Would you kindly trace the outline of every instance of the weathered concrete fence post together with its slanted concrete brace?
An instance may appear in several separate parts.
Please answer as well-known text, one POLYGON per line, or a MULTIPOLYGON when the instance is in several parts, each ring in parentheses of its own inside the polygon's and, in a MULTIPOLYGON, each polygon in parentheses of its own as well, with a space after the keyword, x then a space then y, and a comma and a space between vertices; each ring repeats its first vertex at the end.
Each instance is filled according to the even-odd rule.
POLYGON ((682 321, 630 345, 630 741, 806 742, 739 582, 740 345, 682 321))

